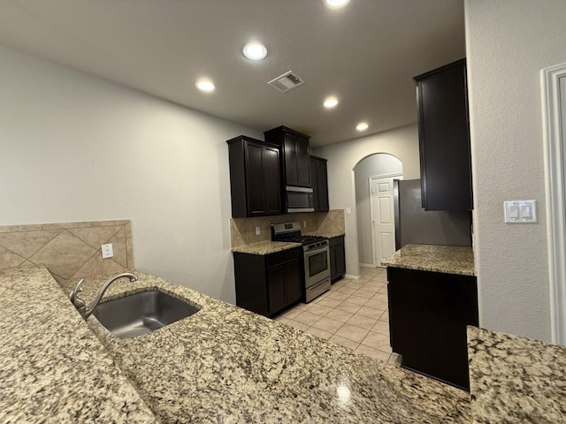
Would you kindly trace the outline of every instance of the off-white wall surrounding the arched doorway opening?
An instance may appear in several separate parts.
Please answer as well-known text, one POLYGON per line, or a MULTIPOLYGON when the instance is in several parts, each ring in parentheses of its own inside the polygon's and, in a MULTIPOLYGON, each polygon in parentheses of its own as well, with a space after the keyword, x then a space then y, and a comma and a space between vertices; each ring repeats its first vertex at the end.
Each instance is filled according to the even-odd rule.
POLYGON ((328 159, 330 208, 352 208, 352 213, 345 216, 346 274, 358 276, 354 167, 365 156, 374 153, 387 153, 394 155, 402 162, 403 178, 420 178, 417 124, 402 126, 360 139, 341 141, 330 146, 317 148, 316 152, 317 155, 328 159))

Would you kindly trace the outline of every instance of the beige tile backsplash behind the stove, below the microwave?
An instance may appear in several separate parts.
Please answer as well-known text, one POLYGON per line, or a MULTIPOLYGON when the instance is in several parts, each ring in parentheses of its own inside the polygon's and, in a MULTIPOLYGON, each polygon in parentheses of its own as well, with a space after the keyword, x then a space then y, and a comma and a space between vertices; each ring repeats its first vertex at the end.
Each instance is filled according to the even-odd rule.
POLYGON ((257 218, 232 218, 230 219, 232 247, 271 240, 272 223, 292 223, 294 221, 306 223, 306 227, 301 229, 303 234, 341 234, 344 233, 346 228, 344 209, 333 209, 328 212, 261 216, 257 218), (259 235, 256 235, 256 227, 260 229, 259 235))

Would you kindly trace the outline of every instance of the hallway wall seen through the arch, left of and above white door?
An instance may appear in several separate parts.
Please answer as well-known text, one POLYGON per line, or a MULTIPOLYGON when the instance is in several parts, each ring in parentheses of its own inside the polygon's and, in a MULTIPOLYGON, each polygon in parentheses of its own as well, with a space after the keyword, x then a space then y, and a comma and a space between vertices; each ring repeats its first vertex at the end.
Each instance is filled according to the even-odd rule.
POLYGON ((386 174, 402 174, 403 165, 393 155, 379 153, 364 157, 354 167, 356 180, 357 246, 360 263, 373 264, 373 239, 371 232, 370 177, 386 174))

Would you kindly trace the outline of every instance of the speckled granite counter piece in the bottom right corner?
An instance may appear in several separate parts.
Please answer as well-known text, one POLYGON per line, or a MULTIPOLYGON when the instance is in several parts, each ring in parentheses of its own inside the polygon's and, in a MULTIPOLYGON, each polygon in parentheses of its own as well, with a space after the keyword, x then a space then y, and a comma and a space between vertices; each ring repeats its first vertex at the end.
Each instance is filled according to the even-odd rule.
POLYGON ((566 422, 566 347, 468 327, 474 423, 566 422))

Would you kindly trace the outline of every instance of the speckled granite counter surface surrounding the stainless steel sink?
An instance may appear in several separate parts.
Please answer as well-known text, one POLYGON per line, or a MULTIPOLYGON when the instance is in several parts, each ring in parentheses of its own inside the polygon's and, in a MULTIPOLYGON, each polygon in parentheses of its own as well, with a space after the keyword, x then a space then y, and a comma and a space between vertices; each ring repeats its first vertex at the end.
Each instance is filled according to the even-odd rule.
MULTIPOLYGON (((88 325, 163 422, 469 423, 468 393, 134 271, 106 297, 159 288, 201 307, 142 337, 88 325)), ((103 278, 87 280, 92 299, 103 278)))

